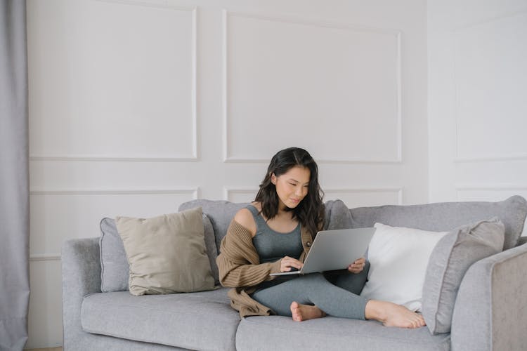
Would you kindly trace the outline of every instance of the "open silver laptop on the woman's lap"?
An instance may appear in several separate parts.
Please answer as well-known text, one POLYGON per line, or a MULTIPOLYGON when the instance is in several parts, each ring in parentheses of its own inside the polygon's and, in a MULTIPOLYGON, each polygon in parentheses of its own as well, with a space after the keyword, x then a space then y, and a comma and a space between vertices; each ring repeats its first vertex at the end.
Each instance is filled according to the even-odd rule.
POLYGON ((271 275, 308 274, 327 270, 342 270, 364 256, 375 228, 322 230, 313 240, 300 270, 271 275))

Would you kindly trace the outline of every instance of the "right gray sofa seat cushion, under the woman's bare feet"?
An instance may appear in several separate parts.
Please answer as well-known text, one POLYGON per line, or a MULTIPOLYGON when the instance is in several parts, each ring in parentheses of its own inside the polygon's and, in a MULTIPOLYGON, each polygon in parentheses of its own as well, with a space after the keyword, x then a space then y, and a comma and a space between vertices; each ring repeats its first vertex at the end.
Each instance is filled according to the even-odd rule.
POLYGON ((242 319, 236 333, 238 351, 254 350, 450 350, 450 333, 431 335, 426 326, 404 329, 375 321, 325 317, 293 322, 291 317, 242 319))

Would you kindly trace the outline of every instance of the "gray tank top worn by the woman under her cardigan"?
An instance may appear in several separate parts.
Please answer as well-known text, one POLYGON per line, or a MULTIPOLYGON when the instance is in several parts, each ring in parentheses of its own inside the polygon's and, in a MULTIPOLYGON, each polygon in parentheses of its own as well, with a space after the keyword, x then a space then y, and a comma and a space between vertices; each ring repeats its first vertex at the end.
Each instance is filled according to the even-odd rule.
POLYGON ((299 258, 304 247, 300 235, 300 223, 292 232, 280 233, 272 230, 256 207, 248 205, 256 222, 256 234, 252 243, 260 256, 260 263, 274 262, 284 256, 299 258))

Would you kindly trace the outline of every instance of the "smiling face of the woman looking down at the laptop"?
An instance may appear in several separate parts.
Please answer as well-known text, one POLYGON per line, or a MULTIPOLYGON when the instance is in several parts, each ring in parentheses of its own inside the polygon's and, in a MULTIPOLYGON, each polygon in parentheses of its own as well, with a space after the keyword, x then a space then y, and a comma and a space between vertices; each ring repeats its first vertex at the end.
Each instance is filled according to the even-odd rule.
POLYGON ((294 166, 280 176, 271 175, 271 183, 276 186, 276 194, 280 199, 280 209, 295 208, 308 193, 309 168, 294 166))

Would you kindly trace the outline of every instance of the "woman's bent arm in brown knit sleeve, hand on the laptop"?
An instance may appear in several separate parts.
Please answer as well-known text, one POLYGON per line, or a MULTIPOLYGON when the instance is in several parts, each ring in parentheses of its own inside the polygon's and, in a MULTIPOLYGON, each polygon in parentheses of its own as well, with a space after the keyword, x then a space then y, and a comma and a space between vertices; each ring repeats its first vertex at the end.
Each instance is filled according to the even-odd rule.
POLYGON ((223 286, 238 288, 256 286, 274 279, 271 273, 280 272, 281 260, 260 263, 252 244, 252 234, 247 228, 233 220, 227 234, 221 240, 220 254, 216 259, 219 279, 223 286))

